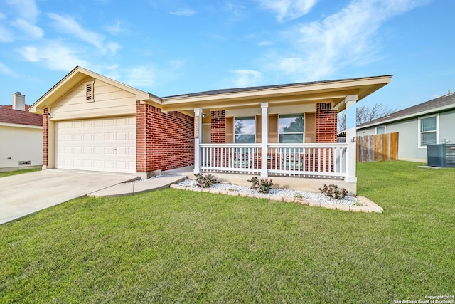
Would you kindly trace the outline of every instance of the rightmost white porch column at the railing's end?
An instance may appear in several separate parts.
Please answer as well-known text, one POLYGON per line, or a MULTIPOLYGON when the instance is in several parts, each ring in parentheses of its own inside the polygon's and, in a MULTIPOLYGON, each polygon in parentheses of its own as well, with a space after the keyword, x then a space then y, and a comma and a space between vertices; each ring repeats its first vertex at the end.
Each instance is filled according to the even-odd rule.
POLYGON ((355 136, 356 136, 356 106, 357 95, 348 95, 344 99, 346 103, 346 177, 345 182, 357 182, 355 174, 355 136))

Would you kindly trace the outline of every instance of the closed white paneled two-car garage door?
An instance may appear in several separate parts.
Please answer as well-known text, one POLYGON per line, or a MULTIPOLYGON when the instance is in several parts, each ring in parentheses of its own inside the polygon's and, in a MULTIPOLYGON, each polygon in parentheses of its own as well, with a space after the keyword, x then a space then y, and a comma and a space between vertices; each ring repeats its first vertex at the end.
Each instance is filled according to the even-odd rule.
POLYGON ((136 117, 55 124, 55 167, 136 172, 136 117))

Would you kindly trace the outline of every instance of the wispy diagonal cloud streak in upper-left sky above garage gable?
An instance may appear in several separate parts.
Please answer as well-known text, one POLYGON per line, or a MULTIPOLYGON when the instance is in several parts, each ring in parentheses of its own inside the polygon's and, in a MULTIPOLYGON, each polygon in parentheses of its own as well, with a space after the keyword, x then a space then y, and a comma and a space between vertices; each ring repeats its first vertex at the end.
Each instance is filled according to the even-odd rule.
POLYGON ((50 19, 53 19, 53 21, 55 21, 55 28, 57 28, 58 31, 72 34, 80 40, 90 43, 92 46, 95 46, 102 53, 111 51, 114 55, 119 48, 117 43, 103 43, 103 41, 105 41, 105 36, 83 28, 70 16, 60 16, 59 14, 54 13, 48 13, 48 16, 50 19))

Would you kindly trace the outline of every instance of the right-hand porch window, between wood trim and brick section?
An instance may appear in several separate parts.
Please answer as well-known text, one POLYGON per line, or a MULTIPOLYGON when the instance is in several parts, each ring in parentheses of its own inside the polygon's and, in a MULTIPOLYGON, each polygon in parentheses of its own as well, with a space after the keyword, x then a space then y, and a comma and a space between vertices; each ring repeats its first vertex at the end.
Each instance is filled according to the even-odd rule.
POLYGON ((304 115, 279 115, 278 136, 279 143, 302 144, 304 142, 304 115))

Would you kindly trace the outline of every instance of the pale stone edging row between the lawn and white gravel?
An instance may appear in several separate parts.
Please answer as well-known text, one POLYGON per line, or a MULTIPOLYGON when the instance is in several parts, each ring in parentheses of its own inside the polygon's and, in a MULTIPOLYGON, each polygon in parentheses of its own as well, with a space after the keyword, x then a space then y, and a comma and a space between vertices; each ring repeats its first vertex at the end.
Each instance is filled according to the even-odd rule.
MULTIPOLYGON (((264 199, 264 197, 255 195, 255 194, 248 194, 246 192, 237 192, 235 190, 219 190, 219 189, 210 189, 210 188, 193 188, 193 187, 186 187, 186 186, 179 186, 178 184, 171 184, 169 185, 172 189, 181 189, 186 191, 193 191, 193 192, 209 192, 210 194, 224 194, 230 196, 242 196, 242 197, 251 197, 255 199, 264 199)), ((351 212, 363 212, 363 213, 382 213, 384 209, 375 202, 370 201, 365 196, 356 196, 358 201, 362 202, 366 206, 349 206, 343 204, 327 204, 321 203, 319 201, 314 201, 312 199, 302 199, 300 197, 292 197, 292 196, 279 196, 279 195, 272 195, 269 196, 268 199, 270 201, 284 201, 286 203, 296 203, 302 204, 306 206, 312 207, 322 207, 326 209, 333 209, 333 210, 340 210, 340 211, 351 211, 351 212)), ((267 199, 267 197, 265 197, 267 199)))

